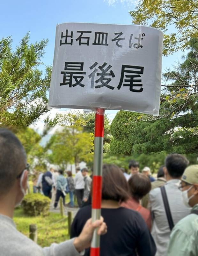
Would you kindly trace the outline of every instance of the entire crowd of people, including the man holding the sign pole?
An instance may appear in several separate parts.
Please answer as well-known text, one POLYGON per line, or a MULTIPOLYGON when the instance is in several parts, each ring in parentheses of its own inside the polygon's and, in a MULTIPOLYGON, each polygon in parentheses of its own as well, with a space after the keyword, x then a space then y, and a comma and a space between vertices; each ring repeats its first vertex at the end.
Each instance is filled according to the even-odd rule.
POLYGON ((52 169, 39 175, 34 191, 50 198, 54 195, 54 207, 61 196, 64 202, 66 193, 70 193, 72 207, 75 193, 80 208, 71 239, 40 248, 19 233, 12 221, 14 207, 27 189, 26 155, 15 135, 0 129, 0 255, 88 256, 96 227, 102 235, 101 256, 198 255, 198 164, 189 165, 185 156, 174 153, 166 156, 156 178, 148 166, 140 172, 135 160, 129 162, 128 170, 113 163, 102 169, 104 220, 95 223, 91 221, 92 177, 87 168, 77 167, 74 178, 70 171, 66 178, 63 170, 52 169))

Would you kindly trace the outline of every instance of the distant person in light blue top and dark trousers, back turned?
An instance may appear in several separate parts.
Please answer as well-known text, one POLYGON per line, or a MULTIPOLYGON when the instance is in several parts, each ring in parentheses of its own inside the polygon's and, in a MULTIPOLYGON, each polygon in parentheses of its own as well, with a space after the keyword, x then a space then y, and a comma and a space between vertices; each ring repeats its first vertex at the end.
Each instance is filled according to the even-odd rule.
POLYGON ((67 180, 63 176, 63 170, 58 170, 58 177, 56 179, 56 198, 54 203, 54 208, 57 207, 59 198, 62 197, 63 205, 65 206, 65 190, 67 186, 67 180))

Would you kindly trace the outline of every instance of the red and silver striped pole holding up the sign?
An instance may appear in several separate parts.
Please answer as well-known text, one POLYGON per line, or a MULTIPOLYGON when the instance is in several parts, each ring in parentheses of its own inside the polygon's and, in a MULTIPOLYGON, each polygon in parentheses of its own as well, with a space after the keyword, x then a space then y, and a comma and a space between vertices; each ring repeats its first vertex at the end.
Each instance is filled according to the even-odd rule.
MULTIPOLYGON (((93 186, 92 186, 92 222, 94 222, 95 220, 99 220, 101 216, 104 115, 105 115, 104 109, 102 108, 96 109, 93 186)), ((100 236, 97 235, 97 230, 95 230, 92 238, 90 256, 99 256, 99 255, 100 255, 100 236)))

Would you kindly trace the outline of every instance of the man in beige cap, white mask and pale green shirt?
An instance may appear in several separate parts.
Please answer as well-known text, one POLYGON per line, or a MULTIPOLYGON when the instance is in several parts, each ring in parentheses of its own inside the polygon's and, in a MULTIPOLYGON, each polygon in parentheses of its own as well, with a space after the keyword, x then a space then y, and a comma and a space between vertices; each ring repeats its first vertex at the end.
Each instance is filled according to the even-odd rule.
POLYGON ((180 220, 172 230, 167 256, 198 255, 198 164, 186 168, 179 189, 183 203, 191 213, 180 220))

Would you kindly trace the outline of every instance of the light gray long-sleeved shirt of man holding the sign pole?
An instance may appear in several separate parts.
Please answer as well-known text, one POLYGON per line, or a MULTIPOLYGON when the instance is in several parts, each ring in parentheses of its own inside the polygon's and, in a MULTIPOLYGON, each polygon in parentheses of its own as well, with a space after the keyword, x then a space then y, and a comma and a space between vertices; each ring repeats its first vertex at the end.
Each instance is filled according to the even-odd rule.
POLYGON ((0 256, 79 256, 73 240, 41 248, 21 234, 13 220, 0 214, 0 256))

